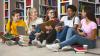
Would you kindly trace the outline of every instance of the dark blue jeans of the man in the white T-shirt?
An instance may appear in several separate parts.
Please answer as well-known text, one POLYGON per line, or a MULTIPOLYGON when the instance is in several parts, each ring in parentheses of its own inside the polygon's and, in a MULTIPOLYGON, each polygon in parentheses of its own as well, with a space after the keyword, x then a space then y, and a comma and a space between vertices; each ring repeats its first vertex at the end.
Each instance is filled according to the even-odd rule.
POLYGON ((68 30, 68 26, 64 26, 63 30, 60 32, 57 32, 57 37, 56 39, 59 39, 60 42, 66 40, 66 34, 67 34, 67 30, 68 30))

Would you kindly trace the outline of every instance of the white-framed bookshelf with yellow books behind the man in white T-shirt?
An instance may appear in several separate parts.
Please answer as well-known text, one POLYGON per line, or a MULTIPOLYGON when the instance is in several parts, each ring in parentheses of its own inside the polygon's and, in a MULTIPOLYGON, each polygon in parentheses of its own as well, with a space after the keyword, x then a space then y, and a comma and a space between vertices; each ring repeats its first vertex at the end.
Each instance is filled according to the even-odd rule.
POLYGON ((78 0, 58 0, 58 18, 61 19, 62 16, 67 15, 67 6, 75 5, 78 7, 78 0))

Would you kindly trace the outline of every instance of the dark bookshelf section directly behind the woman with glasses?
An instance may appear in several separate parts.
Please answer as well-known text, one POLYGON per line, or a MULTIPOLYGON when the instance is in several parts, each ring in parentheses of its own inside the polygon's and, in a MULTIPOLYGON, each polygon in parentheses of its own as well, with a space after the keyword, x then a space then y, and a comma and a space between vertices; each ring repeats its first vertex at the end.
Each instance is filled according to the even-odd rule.
POLYGON ((39 0, 39 16, 45 17, 48 8, 57 10, 58 0, 39 0))

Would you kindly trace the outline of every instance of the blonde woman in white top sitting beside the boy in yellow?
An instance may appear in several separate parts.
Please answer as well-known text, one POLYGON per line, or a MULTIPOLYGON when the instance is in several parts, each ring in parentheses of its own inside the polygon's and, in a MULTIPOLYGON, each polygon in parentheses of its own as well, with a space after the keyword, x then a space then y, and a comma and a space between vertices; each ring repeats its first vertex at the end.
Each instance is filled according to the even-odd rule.
POLYGON ((29 33, 29 45, 32 45, 32 40, 35 39, 35 35, 39 34, 38 32, 40 32, 39 29, 39 24, 43 23, 43 19, 38 17, 38 13, 36 8, 31 8, 29 10, 29 18, 27 20, 28 23, 28 33, 29 33), (33 27, 34 25, 34 28, 33 27))

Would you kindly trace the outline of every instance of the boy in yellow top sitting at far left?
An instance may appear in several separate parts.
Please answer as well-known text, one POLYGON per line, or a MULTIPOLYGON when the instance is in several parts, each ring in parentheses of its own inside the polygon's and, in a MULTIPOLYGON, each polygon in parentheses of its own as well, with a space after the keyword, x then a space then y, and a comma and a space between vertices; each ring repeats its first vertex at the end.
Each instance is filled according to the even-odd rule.
POLYGON ((7 34, 9 33, 14 36, 14 38, 12 38, 12 40, 15 40, 16 43, 18 43, 18 41, 19 41, 19 33, 17 31, 18 26, 24 27, 25 31, 27 33, 26 23, 23 21, 23 19, 20 19, 20 11, 14 10, 11 12, 11 19, 9 19, 6 24, 6 32, 7 32, 7 34))

